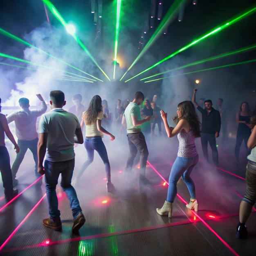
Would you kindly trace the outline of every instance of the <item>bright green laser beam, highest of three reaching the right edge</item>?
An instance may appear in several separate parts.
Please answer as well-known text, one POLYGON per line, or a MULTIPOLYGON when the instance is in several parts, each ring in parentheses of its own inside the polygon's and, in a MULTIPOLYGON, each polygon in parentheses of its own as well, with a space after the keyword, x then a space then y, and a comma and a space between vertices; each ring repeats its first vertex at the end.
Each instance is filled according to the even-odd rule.
POLYGON ((229 27, 230 25, 232 25, 232 24, 238 22, 239 20, 241 20, 241 19, 243 19, 243 18, 245 18, 245 17, 251 15, 251 14, 254 13, 255 11, 256 11, 256 7, 250 9, 249 11, 246 11, 246 12, 243 13, 243 14, 238 15, 236 18, 233 18, 233 19, 231 19, 231 20, 225 22, 225 24, 220 25, 220 26, 214 28, 212 31, 208 32, 208 33, 205 34, 204 36, 198 38, 197 40, 194 40, 192 43, 189 43, 188 45, 186 45, 186 46, 184 46, 183 48, 181 48, 181 49, 177 50, 176 52, 174 52, 173 54, 170 54, 169 56, 163 58, 161 61, 158 61, 157 63, 155 63, 155 64, 152 65, 151 67, 148 67, 146 70, 144 70, 144 71, 140 72, 139 74, 137 74, 137 75, 131 77, 130 79, 126 80, 125 82, 128 82, 128 81, 130 81, 131 79, 133 79, 133 78, 139 76, 140 74, 143 74, 144 72, 147 72, 148 70, 150 70, 150 69, 156 67, 157 65, 163 63, 164 61, 167 61, 168 59, 170 59, 170 58, 172 58, 173 56, 179 54, 180 52, 183 52, 184 50, 186 50, 186 49, 188 49, 189 47, 195 45, 196 43, 201 42, 201 41, 204 40, 205 38, 208 38, 209 36, 211 36, 211 35, 213 35, 213 34, 216 34, 217 32, 221 31, 222 29, 225 29, 226 27, 229 27))

